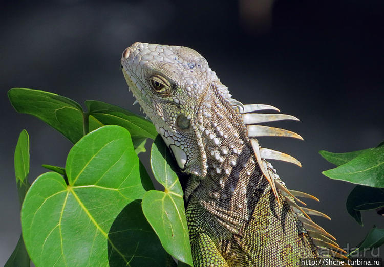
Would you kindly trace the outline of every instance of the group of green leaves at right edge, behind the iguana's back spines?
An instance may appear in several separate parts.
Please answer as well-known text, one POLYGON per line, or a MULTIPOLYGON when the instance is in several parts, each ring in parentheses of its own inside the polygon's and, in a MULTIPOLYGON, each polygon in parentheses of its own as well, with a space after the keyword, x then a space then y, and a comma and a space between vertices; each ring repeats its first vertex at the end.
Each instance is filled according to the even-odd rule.
MULTIPOLYGON (((324 159, 337 167, 322 173, 331 179, 357 184, 347 198, 348 213, 362 224, 361 211, 384 207, 384 142, 375 148, 331 153, 319 151, 324 159)), ((384 244, 384 229, 373 227, 366 238, 348 256, 359 251, 378 248, 384 244)))

